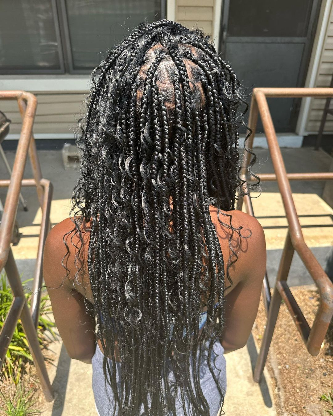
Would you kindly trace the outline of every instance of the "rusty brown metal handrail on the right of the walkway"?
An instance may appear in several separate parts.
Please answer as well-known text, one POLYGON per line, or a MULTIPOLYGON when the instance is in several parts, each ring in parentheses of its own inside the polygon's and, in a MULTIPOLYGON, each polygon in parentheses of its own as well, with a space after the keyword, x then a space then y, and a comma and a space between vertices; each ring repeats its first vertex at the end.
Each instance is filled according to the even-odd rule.
MULTIPOLYGON (((289 181, 293 180, 332 180, 333 173, 286 172, 266 97, 327 98, 332 96, 333 88, 256 88, 253 90, 249 115, 249 128, 251 129, 251 135, 247 141, 247 147, 252 149, 253 138, 256 133, 258 115, 260 114, 275 173, 258 176, 260 177, 261 181, 277 181, 288 220, 288 234, 283 248, 271 301, 269 286, 267 287, 268 281, 266 278, 263 285, 265 305, 269 305, 269 307, 266 329, 263 335, 261 349, 258 354, 258 359, 253 373, 253 379, 256 382, 260 381, 263 373, 263 368, 266 363, 268 350, 271 345, 271 340, 276 325, 276 319, 278 317, 278 311, 281 305, 281 300, 284 300, 286 303, 286 307, 288 308, 291 317, 293 318, 296 327, 301 334, 303 342, 305 343, 306 348, 311 355, 317 355, 319 353, 321 344, 325 338, 328 325, 330 324, 333 315, 333 284, 304 241, 289 183, 289 181), (295 250, 303 261, 311 277, 313 278, 320 296, 320 304, 318 306, 316 317, 311 328, 287 285, 287 277, 295 250)), ((245 152, 243 178, 247 181, 251 181, 251 178, 246 176, 246 168, 249 166, 250 159, 251 154, 245 152)), ((251 198, 249 198, 249 196, 246 196, 240 200, 240 209, 243 199, 247 212, 251 215, 254 215, 251 205, 251 198)))

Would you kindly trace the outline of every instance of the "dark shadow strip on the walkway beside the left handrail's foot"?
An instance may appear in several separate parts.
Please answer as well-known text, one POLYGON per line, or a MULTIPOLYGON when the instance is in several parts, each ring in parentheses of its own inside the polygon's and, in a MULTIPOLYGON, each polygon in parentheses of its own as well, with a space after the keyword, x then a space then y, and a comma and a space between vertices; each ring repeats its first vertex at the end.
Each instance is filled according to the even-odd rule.
POLYGON ((64 344, 61 346, 57 373, 52 383, 55 392, 55 401, 52 407, 52 416, 61 416, 64 410, 68 375, 70 372, 70 357, 67 354, 64 344))

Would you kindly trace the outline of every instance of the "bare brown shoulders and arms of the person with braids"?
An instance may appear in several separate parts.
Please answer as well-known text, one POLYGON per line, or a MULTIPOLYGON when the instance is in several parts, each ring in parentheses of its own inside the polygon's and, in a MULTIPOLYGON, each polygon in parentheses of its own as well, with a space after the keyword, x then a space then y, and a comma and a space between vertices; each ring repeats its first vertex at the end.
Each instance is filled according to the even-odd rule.
MULTIPOLYGON (((211 206, 210 211, 226 262, 231 254, 230 230, 219 223, 216 208, 211 206)), ((239 237, 234 233, 233 247, 234 249, 236 247, 238 260, 229 270, 233 285, 225 291, 226 321, 225 330, 220 337, 225 353, 244 347, 249 338, 258 311, 266 269, 266 244, 261 225, 255 218, 241 211, 234 210, 229 213, 232 215, 233 226, 235 228, 242 226, 242 235, 249 235, 246 229, 251 230, 251 237, 242 238, 239 247, 239 237)), ((225 223, 229 223, 229 217, 220 215, 220 218, 225 223)), ((44 251, 44 280, 50 295, 55 323, 69 356, 90 364, 96 345, 95 324, 94 316, 84 305, 84 297, 92 303, 94 300, 86 270, 83 270, 82 275, 74 282, 77 271, 74 264, 76 252, 74 245, 70 243, 70 237, 67 237, 70 255, 65 262, 70 272, 68 278, 65 278, 65 269, 61 264, 67 252, 63 236, 72 229, 72 220, 67 218, 50 231, 44 251)), ((74 236, 72 242, 77 243, 78 238, 74 236)), ((86 233, 84 234, 84 264, 86 264, 88 244, 89 236, 86 233)), ((229 286, 227 279, 225 285, 229 286)), ((119 359, 117 348, 115 355, 116 359, 119 359)))

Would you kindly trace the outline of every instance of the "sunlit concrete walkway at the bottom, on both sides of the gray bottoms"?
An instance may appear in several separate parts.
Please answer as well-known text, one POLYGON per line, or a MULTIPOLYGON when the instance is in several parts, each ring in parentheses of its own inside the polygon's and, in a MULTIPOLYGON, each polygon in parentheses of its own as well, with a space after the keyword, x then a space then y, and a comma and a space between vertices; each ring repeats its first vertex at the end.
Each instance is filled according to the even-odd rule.
MULTIPOLYGON (((55 361, 48 373, 55 392, 52 403, 44 403, 44 416, 97 415, 92 393, 92 367, 68 357, 61 341, 50 349, 55 361)), ((227 416, 275 416, 271 378, 268 372, 260 384, 253 381, 252 370, 257 350, 250 336, 247 345, 226 354, 227 392, 223 410, 227 416)))

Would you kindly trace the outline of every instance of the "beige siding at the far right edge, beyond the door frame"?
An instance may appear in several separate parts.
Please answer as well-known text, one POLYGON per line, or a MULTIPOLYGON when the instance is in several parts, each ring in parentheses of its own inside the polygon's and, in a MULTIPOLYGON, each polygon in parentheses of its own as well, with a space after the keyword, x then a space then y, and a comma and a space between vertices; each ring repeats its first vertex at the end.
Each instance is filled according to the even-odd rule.
MULTIPOLYGON (((321 51, 321 57, 316 76, 316 82, 313 87, 329 87, 333 74, 333 5, 328 20, 325 40, 321 51)), ((323 109, 325 106, 325 99, 311 99, 310 109, 308 112, 308 120, 306 123, 307 133, 318 133, 323 109)), ((333 100, 331 102, 331 109, 333 109, 333 100)), ((333 132, 333 116, 328 114, 325 124, 327 133, 333 132)))

